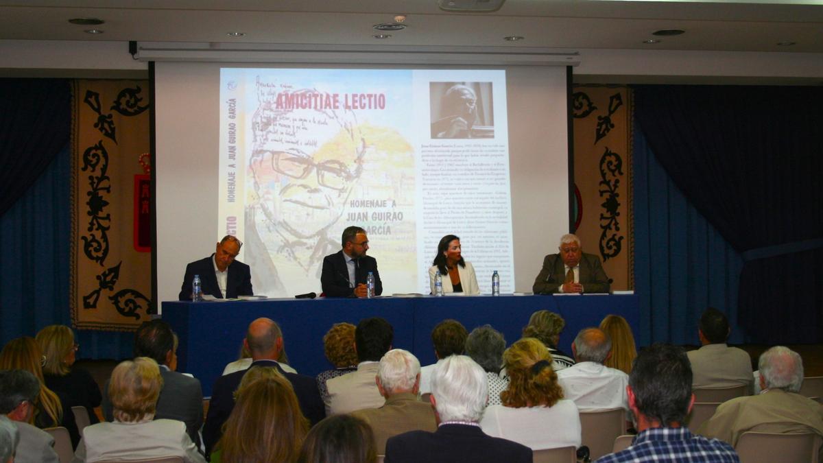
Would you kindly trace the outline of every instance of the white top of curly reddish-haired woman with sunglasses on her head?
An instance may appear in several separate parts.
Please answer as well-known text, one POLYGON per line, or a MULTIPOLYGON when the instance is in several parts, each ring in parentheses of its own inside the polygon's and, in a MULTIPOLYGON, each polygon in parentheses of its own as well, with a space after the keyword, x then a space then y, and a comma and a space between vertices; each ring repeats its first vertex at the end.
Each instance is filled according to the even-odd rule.
POLYGON ((514 409, 490 405, 480 427, 492 437, 518 442, 532 450, 580 447, 580 414, 571 400, 558 400, 553 407, 514 409))

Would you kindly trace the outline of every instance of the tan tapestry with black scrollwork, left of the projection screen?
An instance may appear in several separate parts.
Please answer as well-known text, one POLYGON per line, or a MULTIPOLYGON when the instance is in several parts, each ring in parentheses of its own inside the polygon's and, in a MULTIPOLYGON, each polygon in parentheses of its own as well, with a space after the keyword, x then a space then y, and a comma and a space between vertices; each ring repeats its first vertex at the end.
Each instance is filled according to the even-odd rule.
POLYGON ((72 322, 134 330, 151 307, 147 81, 74 82, 72 322))

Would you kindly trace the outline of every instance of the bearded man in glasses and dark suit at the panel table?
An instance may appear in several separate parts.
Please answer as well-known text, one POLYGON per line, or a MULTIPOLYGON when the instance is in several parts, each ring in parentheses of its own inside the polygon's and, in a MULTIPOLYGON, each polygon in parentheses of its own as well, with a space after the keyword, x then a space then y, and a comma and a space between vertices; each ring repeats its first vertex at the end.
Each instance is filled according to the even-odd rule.
POLYGON ((365 255, 369 238, 360 227, 343 230, 342 250, 323 258, 320 283, 326 297, 365 297, 365 278, 374 273, 374 295, 383 293, 383 282, 377 271, 377 260, 365 255))

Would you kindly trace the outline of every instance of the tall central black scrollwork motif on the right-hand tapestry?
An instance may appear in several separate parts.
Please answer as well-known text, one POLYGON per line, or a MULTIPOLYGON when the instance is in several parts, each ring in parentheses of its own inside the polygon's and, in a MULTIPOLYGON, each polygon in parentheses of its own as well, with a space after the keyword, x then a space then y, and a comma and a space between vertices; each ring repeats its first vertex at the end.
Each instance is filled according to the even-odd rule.
POLYGON ((600 204, 605 212, 600 213, 600 255, 603 262, 611 257, 616 257, 623 247, 624 236, 620 236, 620 193, 617 189, 620 186, 620 177, 623 175, 623 159, 616 152, 612 152, 608 147, 600 157, 600 189, 598 193, 601 198, 605 198, 600 204))

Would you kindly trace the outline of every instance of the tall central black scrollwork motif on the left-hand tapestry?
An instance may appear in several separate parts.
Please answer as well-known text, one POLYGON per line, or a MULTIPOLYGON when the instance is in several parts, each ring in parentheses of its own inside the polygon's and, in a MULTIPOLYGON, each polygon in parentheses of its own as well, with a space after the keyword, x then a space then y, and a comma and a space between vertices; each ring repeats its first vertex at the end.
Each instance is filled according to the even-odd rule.
POLYGON ((86 228, 88 235, 81 236, 83 241, 83 253, 90 260, 94 260, 102 265, 109 255, 109 231, 111 215, 104 213, 104 209, 109 205, 103 194, 111 193, 111 179, 108 175, 109 152, 103 145, 103 140, 94 146, 86 148, 83 152, 83 166, 81 171, 89 171, 89 190, 86 191, 88 200, 86 206, 89 216, 89 225, 86 228))

